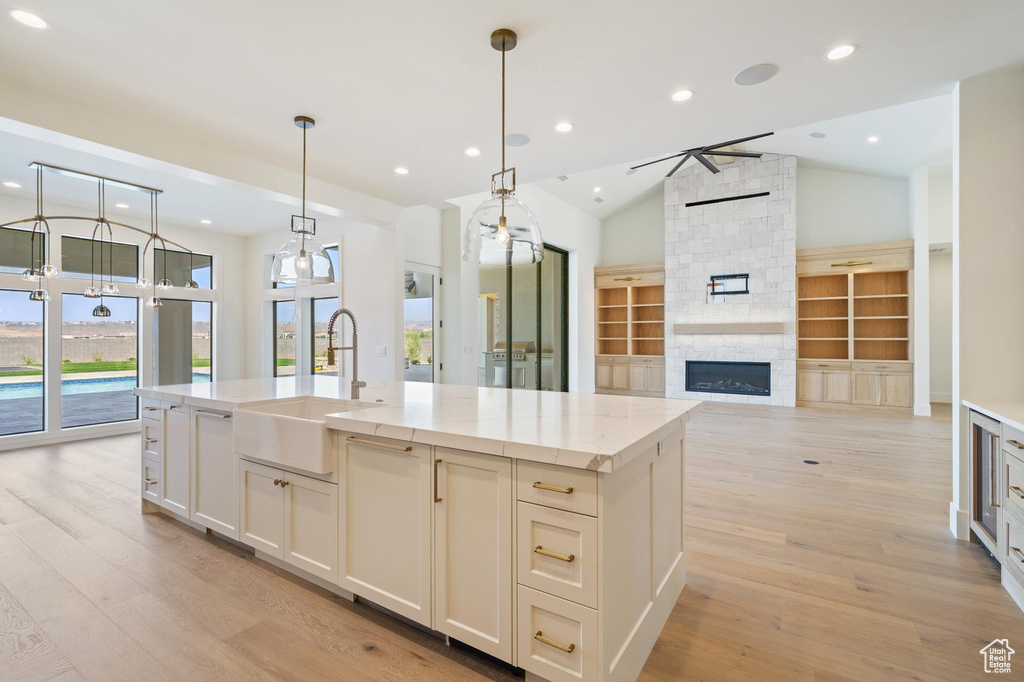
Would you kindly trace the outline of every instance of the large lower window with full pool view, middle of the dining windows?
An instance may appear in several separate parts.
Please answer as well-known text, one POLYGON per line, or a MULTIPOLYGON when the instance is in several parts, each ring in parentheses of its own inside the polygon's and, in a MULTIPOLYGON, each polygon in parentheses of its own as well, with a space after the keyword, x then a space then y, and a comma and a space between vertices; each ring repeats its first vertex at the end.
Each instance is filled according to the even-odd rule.
POLYGON ((61 297, 60 426, 138 418, 138 299, 61 297), (109 317, 93 316, 100 304, 109 317))

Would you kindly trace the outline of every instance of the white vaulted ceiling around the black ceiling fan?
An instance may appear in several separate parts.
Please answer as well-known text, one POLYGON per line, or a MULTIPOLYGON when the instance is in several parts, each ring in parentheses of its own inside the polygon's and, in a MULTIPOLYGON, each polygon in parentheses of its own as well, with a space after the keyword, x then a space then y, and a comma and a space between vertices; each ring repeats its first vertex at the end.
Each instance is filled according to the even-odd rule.
MULTIPOLYGON (((699 143, 713 144, 717 141, 724 140, 706 139, 699 143)), ((792 154, 800 158, 801 166, 906 177, 918 166, 951 162, 952 98, 941 95, 798 126, 755 140, 741 148, 792 154), (812 132, 824 133, 825 137, 811 137, 812 132), (870 136, 878 136, 879 141, 868 142, 870 136)), ((665 174, 676 160, 626 174, 630 166, 650 160, 615 164, 573 173, 565 180, 550 178, 535 184, 604 219, 659 194, 665 174), (600 187, 601 191, 595 193, 594 187, 600 187), (597 197, 604 201, 595 203, 597 197)), ((728 163, 721 158, 718 161, 728 163)), ((695 163, 689 161, 684 167, 695 163)))

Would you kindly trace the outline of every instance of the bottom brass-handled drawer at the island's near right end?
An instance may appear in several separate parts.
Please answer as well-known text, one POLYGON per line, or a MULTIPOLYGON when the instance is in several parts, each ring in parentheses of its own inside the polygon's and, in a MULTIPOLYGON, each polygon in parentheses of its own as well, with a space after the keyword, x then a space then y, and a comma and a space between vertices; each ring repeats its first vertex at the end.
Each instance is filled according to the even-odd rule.
POLYGON ((597 679, 597 611, 518 588, 519 667, 551 682, 597 679))

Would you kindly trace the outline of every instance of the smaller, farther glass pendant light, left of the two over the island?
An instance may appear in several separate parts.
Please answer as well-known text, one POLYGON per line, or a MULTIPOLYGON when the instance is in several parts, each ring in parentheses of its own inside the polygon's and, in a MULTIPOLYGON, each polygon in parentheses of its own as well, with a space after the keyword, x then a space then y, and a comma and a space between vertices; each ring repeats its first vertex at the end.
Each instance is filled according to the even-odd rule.
POLYGON ((316 219, 306 217, 306 131, 316 125, 308 116, 296 116, 302 128, 302 215, 292 216, 293 237, 273 256, 270 281, 274 284, 332 284, 334 263, 316 235, 316 219))

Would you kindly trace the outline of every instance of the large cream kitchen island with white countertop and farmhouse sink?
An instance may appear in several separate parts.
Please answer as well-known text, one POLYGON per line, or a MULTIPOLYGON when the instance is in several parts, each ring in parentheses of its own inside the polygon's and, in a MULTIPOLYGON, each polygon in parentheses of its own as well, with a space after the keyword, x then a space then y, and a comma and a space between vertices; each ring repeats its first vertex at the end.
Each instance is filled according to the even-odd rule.
POLYGON ((336 377, 136 389, 142 509, 530 679, 634 680, 685 585, 690 400, 336 377))

